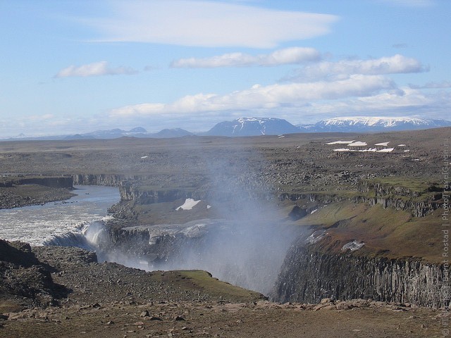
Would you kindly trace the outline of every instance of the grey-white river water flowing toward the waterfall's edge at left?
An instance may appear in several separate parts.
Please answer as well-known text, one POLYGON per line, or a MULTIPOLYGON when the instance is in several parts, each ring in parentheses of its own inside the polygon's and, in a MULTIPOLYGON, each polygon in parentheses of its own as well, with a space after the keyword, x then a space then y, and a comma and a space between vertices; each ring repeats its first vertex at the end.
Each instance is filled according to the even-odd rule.
POLYGON ((0 210, 0 239, 32 245, 70 245, 89 224, 105 220, 120 200, 117 187, 75 186, 71 199, 0 210))

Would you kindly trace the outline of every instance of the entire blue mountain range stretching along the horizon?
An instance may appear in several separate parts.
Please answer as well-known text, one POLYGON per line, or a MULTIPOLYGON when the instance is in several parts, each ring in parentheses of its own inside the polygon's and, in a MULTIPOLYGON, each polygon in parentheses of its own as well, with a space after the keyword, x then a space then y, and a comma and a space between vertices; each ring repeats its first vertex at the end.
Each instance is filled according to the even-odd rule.
POLYGON ((420 130, 435 127, 449 127, 451 121, 425 118, 378 118, 378 117, 343 117, 328 118, 313 125, 292 125, 280 118, 237 118, 216 124, 207 132, 192 133, 180 128, 164 129, 160 132, 147 132, 143 127, 131 130, 97 130, 85 134, 55 135, 48 137, 26 137, 20 134, 14 139, 115 139, 118 137, 153 137, 171 138, 189 135, 209 136, 259 136, 293 134, 298 132, 382 132, 397 130, 420 130))

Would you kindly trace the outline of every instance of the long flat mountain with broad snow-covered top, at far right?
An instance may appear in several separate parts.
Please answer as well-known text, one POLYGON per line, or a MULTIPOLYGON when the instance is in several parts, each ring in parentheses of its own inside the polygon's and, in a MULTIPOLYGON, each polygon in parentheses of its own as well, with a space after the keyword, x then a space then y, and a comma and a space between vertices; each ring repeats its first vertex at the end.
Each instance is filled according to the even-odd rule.
POLYGON ((426 118, 352 116, 328 118, 314 125, 299 125, 306 132, 383 132, 451 126, 451 121, 426 118))

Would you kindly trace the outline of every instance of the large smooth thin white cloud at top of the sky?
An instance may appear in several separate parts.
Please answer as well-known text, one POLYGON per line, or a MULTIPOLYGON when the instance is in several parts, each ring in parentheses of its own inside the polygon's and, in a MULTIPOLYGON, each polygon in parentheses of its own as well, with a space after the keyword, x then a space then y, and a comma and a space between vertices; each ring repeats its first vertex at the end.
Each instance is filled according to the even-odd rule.
POLYGON ((110 15, 83 20, 104 42, 273 48, 326 35, 335 15, 278 11, 220 1, 113 1, 110 15))

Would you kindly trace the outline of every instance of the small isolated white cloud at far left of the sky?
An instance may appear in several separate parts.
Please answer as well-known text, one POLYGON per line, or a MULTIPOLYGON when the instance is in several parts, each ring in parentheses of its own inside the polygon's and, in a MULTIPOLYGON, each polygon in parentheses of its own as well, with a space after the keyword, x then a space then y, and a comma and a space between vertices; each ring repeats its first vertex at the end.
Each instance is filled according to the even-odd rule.
POLYGON ((101 75, 132 75, 137 71, 129 67, 110 68, 108 62, 100 61, 87 65, 70 65, 61 69, 55 77, 88 77, 101 75))

